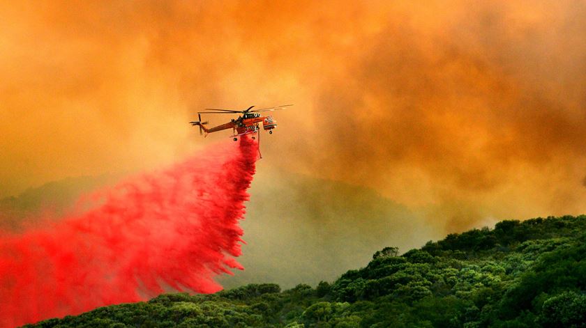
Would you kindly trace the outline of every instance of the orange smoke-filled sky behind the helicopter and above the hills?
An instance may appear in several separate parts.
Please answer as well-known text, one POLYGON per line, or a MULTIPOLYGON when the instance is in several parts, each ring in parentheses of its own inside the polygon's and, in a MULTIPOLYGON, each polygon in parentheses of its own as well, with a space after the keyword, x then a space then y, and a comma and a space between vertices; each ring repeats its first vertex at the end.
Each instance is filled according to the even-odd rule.
POLYGON ((0 196, 183 158, 209 142, 187 124, 204 107, 292 103, 259 170, 375 189, 446 231, 586 212, 584 1, 1 1, 0 17, 0 196))

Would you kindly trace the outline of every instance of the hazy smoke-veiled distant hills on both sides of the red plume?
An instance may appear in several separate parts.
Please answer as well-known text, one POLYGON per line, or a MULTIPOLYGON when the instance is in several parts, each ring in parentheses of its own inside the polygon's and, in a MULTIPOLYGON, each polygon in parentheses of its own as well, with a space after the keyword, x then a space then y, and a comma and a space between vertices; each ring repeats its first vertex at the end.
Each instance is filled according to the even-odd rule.
MULTIPOLYGON (((63 212, 80 193, 111 181, 68 178, 4 198, 0 208, 12 215, 3 226, 20 229, 23 219, 46 209, 63 212)), ((221 276, 226 288, 262 281, 315 285, 367 263, 383 247, 407 251, 440 237, 417 214, 364 187, 267 170, 257 172, 250 195, 241 221, 247 244, 238 258, 245 270, 221 276)))

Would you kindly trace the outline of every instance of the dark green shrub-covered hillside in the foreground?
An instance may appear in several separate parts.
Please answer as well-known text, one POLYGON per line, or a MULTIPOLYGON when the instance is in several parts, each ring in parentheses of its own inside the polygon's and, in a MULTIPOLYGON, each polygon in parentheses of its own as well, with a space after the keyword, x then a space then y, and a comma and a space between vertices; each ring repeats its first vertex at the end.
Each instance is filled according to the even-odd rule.
POLYGON ((586 216, 448 235, 315 288, 167 294, 29 327, 586 327, 586 216))

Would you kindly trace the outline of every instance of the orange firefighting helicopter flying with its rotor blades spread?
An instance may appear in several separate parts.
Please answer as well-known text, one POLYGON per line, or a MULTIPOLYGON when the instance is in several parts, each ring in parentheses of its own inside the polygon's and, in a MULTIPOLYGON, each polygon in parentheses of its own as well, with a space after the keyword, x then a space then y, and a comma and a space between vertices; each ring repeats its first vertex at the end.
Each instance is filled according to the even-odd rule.
MULTIPOLYGON (((254 106, 248 107, 248 109, 244 109, 242 111, 237 111, 233 109, 217 109, 217 108, 206 108, 204 111, 197 112, 197 118, 199 120, 195 120, 190 122, 193 126, 200 127, 200 135, 204 134, 207 136, 209 133, 218 132, 222 130, 232 129, 232 138, 234 141, 238 141, 240 136, 245 134, 255 134, 260 132, 260 123, 262 123, 262 128, 265 131, 269 131, 269 134, 273 134, 273 129, 277 127, 277 121, 273 118, 273 116, 262 116, 262 112, 264 111, 276 111, 279 109, 285 109, 285 107, 293 106, 293 104, 284 104, 281 106, 276 107, 267 107, 262 109, 255 109, 253 110, 254 106), (216 127, 206 128, 205 125, 208 122, 202 122, 202 114, 242 114, 238 118, 233 118, 228 123, 224 123, 222 125, 218 125, 216 127)), ((253 136, 255 139, 255 136, 253 136)))

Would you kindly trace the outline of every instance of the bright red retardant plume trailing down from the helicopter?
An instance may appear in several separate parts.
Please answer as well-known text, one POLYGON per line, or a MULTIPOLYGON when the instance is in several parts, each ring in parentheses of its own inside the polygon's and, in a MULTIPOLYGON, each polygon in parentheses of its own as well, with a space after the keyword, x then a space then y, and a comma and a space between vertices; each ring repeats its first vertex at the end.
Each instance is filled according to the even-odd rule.
MULTIPOLYGON (((257 143, 221 144, 92 194, 99 204, 0 237, 0 324, 12 327, 169 290, 216 292, 241 253, 257 143), (79 212, 79 211, 78 211, 79 212)), ((80 201, 86 207, 89 201, 80 201)), ((79 207, 79 206, 78 206, 79 207)))

